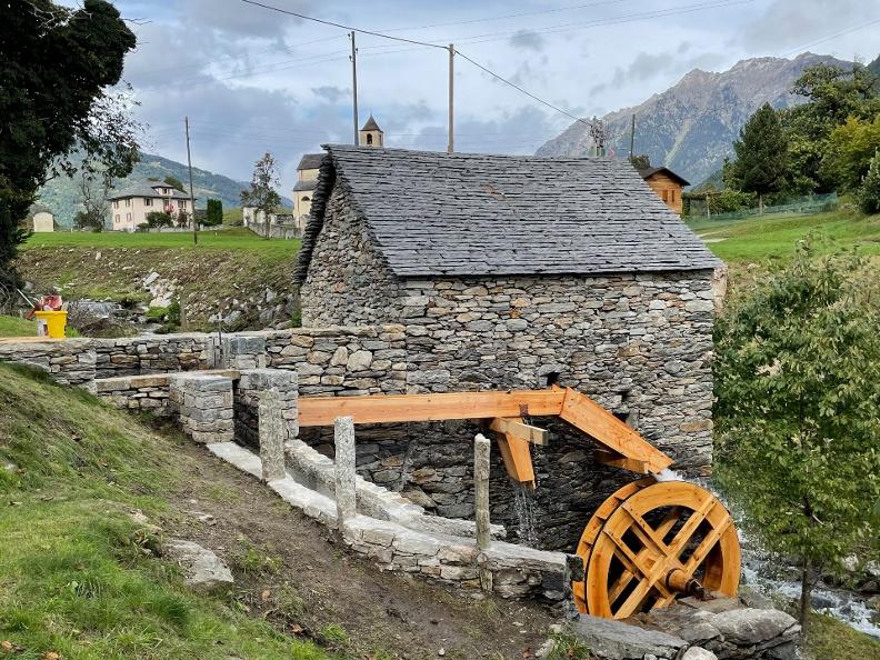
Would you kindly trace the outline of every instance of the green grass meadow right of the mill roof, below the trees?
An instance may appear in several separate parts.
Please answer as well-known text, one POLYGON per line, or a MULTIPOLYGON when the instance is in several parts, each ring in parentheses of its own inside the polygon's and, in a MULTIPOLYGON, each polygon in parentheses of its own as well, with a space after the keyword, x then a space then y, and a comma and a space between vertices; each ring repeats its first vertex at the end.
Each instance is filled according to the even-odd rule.
POLYGON ((784 260, 798 240, 809 233, 830 239, 822 249, 856 248, 861 254, 880 254, 880 216, 863 217, 833 211, 813 216, 764 216, 743 220, 688 222, 709 248, 728 263, 784 260))

